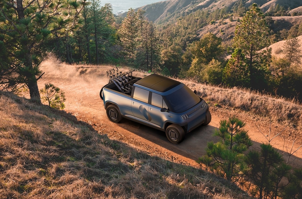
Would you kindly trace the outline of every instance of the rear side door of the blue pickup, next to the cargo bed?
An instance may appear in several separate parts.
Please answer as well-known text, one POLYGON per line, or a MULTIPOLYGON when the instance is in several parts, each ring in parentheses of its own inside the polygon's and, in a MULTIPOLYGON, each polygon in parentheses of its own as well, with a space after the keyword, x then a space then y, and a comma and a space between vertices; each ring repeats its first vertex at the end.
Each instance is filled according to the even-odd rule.
POLYGON ((135 119, 149 124, 150 116, 148 114, 149 108, 149 91, 135 87, 133 91, 133 99, 131 103, 131 110, 135 119))

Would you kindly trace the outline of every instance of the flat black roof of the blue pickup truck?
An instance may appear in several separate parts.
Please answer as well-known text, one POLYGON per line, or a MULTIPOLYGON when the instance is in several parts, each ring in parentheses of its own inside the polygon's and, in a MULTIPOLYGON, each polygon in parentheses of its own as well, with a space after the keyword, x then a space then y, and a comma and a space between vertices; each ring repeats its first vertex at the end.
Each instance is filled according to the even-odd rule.
POLYGON ((157 75, 157 74, 148 75, 143 79, 138 80, 135 83, 144 86, 146 88, 151 88, 158 92, 169 91, 175 86, 181 84, 181 82, 178 82, 174 79, 170 79, 168 77, 164 77, 162 75, 157 75))

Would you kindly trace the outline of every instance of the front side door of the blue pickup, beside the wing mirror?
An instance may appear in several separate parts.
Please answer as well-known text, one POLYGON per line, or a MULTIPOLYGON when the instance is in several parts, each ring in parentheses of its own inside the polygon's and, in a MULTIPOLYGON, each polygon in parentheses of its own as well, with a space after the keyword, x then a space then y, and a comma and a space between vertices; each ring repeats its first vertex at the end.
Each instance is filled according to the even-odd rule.
POLYGON ((161 112, 160 109, 162 108, 168 109, 165 101, 162 99, 162 96, 152 92, 151 104, 149 105, 148 109, 148 113, 151 117, 149 124, 163 129, 165 121, 170 120, 170 113, 161 112))

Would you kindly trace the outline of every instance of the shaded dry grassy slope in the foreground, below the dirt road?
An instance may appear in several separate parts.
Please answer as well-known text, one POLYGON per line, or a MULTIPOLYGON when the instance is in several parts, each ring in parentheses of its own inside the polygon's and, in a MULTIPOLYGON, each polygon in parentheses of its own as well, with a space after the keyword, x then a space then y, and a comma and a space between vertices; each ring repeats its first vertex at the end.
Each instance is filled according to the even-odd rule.
POLYGON ((201 169, 149 156, 7 92, 0 147, 0 198, 247 198, 201 169))

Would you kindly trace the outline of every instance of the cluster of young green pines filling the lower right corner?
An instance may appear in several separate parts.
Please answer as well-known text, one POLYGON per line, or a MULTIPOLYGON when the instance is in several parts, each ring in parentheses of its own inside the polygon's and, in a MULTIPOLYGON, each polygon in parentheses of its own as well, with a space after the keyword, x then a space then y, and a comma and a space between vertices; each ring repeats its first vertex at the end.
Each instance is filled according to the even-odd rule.
MULTIPOLYGON (((207 143, 206 155, 197 162, 206 170, 239 185, 255 198, 300 198, 302 196, 302 167, 292 168, 283 153, 270 141, 259 150, 249 150, 252 140, 245 123, 236 117, 221 120, 214 135, 217 143, 207 143), (247 152, 246 152, 247 151, 247 152)), ((301 146, 300 146, 301 147, 301 146)))

